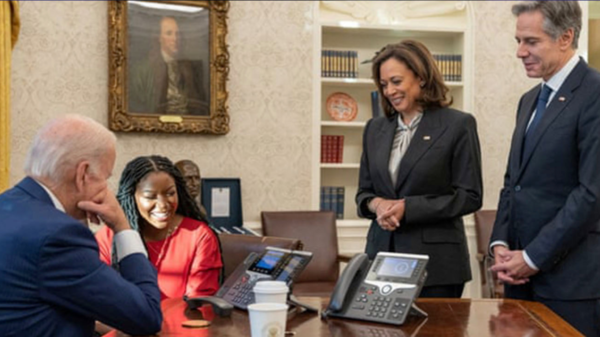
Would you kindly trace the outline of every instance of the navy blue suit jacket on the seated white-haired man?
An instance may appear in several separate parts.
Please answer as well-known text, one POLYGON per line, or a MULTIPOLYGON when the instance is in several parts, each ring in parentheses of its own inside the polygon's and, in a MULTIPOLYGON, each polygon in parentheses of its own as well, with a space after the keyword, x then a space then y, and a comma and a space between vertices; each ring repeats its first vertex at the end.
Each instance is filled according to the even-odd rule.
POLYGON ((0 195, 0 219, 0 336, 91 336, 94 320, 160 330, 156 270, 143 254, 124 258, 120 276, 31 178, 0 195))

